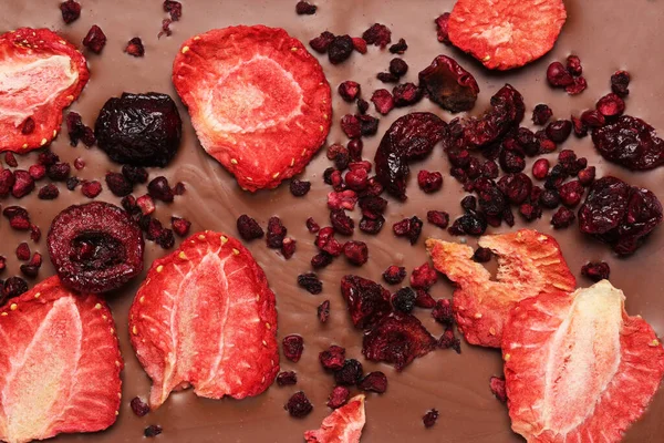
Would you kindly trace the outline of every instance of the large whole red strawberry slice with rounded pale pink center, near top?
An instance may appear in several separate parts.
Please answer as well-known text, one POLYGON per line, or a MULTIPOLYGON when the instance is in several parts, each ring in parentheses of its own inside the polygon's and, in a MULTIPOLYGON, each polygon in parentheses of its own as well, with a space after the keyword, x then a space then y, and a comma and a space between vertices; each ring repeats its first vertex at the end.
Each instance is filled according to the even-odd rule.
POLYGON ((325 74, 279 28, 230 27, 187 40, 173 83, 203 147, 248 190, 300 173, 330 131, 325 74))

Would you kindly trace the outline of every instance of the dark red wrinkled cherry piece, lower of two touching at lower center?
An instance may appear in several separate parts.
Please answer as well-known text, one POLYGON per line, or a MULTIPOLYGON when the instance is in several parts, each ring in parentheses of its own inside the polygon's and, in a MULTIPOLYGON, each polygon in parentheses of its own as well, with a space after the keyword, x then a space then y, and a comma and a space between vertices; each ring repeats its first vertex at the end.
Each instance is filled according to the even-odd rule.
POLYGON ((436 339, 417 318, 393 312, 364 333, 362 353, 367 360, 383 361, 401 371, 435 347, 436 339))

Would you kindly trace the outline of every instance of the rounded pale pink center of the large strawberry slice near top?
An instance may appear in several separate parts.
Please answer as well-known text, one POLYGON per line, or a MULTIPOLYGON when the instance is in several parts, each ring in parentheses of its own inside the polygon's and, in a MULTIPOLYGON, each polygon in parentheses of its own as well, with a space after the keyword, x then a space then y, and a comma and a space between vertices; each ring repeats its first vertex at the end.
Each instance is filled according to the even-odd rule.
POLYGON ((273 60, 257 55, 225 74, 208 103, 218 131, 251 133, 300 113, 301 87, 273 60))

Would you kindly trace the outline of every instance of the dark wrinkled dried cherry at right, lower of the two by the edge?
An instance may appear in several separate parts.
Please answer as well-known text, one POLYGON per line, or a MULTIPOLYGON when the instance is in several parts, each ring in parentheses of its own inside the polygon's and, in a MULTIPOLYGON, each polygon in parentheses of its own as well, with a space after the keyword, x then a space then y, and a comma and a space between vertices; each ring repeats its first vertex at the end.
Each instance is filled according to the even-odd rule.
POLYGON ((626 256, 643 244, 662 217, 662 204, 655 194, 608 176, 590 187, 579 208, 579 229, 626 256))

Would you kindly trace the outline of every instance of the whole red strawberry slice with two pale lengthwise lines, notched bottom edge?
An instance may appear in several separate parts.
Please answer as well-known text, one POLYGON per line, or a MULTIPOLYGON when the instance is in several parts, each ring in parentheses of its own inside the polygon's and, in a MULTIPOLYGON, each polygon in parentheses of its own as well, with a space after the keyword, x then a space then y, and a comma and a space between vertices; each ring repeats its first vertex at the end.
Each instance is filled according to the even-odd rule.
POLYGON ((132 346, 157 409, 170 391, 243 399, 279 372, 274 293, 240 241, 206 230, 155 260, 129 311, 132 346))

